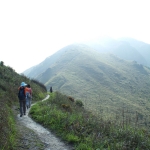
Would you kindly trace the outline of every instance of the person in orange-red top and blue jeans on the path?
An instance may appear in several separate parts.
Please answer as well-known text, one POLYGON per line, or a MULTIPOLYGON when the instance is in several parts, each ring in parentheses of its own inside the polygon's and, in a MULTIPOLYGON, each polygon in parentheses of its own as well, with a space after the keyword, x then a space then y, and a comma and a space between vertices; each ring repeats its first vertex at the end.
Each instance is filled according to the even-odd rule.
POLYGON ((32 98, 32 89, 30 87, 30 84, 27 84, 25 88, 25 95, 26 95, 26 107, 28 109, 31 106, 31 98, 32 98))

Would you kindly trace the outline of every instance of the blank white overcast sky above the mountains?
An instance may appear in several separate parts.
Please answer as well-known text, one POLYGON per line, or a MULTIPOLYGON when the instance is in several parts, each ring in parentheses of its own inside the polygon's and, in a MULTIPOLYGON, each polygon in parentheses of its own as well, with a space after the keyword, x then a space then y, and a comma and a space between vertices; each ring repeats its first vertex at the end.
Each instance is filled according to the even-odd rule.
POLYGON ((150 44, 149 2, 0 0, 0 61, 21 73, 64 46, 93 37, 150 44))

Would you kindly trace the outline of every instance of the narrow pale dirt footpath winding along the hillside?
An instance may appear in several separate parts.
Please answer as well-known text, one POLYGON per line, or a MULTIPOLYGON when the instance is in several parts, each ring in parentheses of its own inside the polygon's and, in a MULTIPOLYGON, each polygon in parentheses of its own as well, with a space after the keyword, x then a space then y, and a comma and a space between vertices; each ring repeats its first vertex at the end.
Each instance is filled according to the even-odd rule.
MULTIPOLYGON (((42 101, 48 98, 49 95, 42 101)), ((32 120, 28 116, 29 111, 30 109, 23 117, 20 117, 20 114, 16 117, 17 128, 20 133, 17 139, 19 143, 16 147, 17 150, 73 150, 71 146, 65 144, 49 130, 32 120)))

